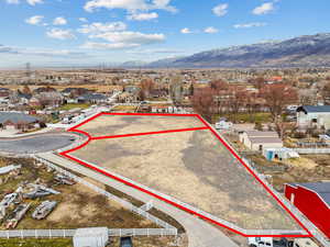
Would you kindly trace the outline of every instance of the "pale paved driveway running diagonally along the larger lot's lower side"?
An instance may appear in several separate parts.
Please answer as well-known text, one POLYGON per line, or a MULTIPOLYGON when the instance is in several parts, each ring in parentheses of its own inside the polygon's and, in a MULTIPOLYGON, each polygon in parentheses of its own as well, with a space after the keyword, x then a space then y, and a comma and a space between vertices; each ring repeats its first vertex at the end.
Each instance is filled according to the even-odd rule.
POLYGON ((58 157, 54 154, 40 154, 40 157, 47 159, 62 167, 68 168, 89 178, 92 178, 103 184, 108 184, 117 190, 122 191, 144 203, 153 201, 154 207, 176 218, 186 229, 188 235, 189 247, 238 247, 228 236, 226 236, 218 228, 211 224, 182 211, 166 202, 160 201, 146 193, 138 191, 131 187, 128 187, 117 180, 110 179, 101 173, 85 168, 78 164, 58 157))

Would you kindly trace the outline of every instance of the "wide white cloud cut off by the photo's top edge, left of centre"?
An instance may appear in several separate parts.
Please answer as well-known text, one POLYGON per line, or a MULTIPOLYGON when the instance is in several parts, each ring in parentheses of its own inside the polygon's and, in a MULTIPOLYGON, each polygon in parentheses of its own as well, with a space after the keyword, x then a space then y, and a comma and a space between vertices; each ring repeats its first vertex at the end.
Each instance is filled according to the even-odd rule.
POLYGON ((170 0, 89 0, 86 2, 84 9, 92 12, 96 9, 124 9, 128 11, 148 11, 148 10, 167 10, 175 12, 176 9, 170 4, 170 0))

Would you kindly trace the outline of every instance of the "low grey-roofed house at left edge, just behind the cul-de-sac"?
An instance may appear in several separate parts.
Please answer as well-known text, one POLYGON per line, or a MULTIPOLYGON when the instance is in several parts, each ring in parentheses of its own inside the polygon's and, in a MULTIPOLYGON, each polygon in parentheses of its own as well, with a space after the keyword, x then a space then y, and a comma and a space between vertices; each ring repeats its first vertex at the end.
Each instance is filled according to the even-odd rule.
POLYGON ((0 130, 29 130, 40 121, 36 117, 19 112, 0 112, 0 130))

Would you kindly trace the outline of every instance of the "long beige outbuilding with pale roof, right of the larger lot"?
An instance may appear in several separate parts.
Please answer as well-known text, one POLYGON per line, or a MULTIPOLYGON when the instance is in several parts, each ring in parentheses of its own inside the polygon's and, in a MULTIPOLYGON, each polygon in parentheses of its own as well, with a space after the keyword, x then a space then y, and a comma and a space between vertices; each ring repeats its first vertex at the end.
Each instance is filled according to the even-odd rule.
POLYGON ((251 150, 262 151, 264 148, 283 147, 283 142, 276 132, 243 131, 240 142, 251 150))

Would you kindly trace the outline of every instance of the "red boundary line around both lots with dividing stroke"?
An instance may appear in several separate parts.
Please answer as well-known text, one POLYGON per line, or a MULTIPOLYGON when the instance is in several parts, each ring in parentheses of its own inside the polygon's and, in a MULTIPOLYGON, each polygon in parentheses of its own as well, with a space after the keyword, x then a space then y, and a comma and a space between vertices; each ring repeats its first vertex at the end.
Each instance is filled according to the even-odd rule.
POLYGON ((73 148, 73 149, 69 149, 69 150, 66 150, 66 151, 62 151, 59 153, 59 155, 66 157, 66 158, 69 158, 87 168, 90 168, 90 169, 94 169, 109 178, 112 178, 114 180, 118 180, 120 181, 121 183, 124 183, 127 186, 130 186, 134 189, 138 189, 144 193, 147 193, 154 198, 157 198, 164 202, 167 202, 172 205, 175 205, 176 207, 179 207, 188 213, 191 213, 191 214, 195 214, 204 220, 207 220, 216 225, 219 225, 219 226, 222 226, 233 233, 237 233, 239 235, 242 235, 244 237, 312 237, 312 234, 308 231, 308 228, 306 226, 304 226, 304 224, 289 211, 289 209, 287 209, 287 206, 285 204, 283 204, 283 202, 273 193, 273 191, 254 173, 253 170, 251 170, 251 168, 242 160, 242 158, 240 158, 240 156, 232 149, 232 147, 230 147, 227 142, 224 142, 221 136, 198 114, 157 114, 157 113, 99 113, 84 122, 81 122, 80 124, 72 127, 68 130, 69 132, 77 132, 77 133, 80 133, 80 134, 84 134, 88 137, 87 142, 81 144, 80 146, 76 147, 76 148, 73 148), (80 131, 80 130, 77 130, 77 127, 97 119, 98 116, 100 115, 148 115, 148 116, 155 116, 155 115, 163 115, 163 116, 193 116, 193 117, 197 117, 200 122, 204 123, 205 127, 195 127, 195 128, 182 128, 182 130, 168 130, 168 131, 161 131, 161 132, 148 132, 148 133, 134 133, 134 134, 124 134, 124 135, 114 135, 114 136, 98 136, 98 137, 92 137, 89 133, 87 132, 84 132, 84 131, 80 131), (70 155, 68 155, 69 153, 72 151, 75 151, 77 149, 80 149, 82 147, 85 147, 86 145, 88 145, 91 141, 94 139, 105 139, 105 138, 120 138, 120 137, 130 137, 130 136, 142 136, 142 135, 153 135, 153 134, 165 134, 165 133, 175 133, 175 132, 186 132, 186 131, 198 131, 198 130, 209 130, 219 141, 220 143, 241 162, 241 165, 244 166, 244 168, 246 168, 246 170, 264 187, 264 189, 279 203, 279 205, 308 233, 307 235, 246 235, 246 234, 243 234, 237 229, 233 229, 233 228, 230 228, 229 226, 227 225, 223 225, 215 220, 211 220, 202 214, 199 214, 195 211, 191 211, 185 206, 182 206, 170 200, 167 200, 165 198, 162 198, 161 195, 157 195, 151 191, 147 191, 139 186, 135 186, 131 182, 128 182, 121 178, 118 178, 102 169, 99 169, 90 164, 87 164, 76 157, 73 157, 70 155))

